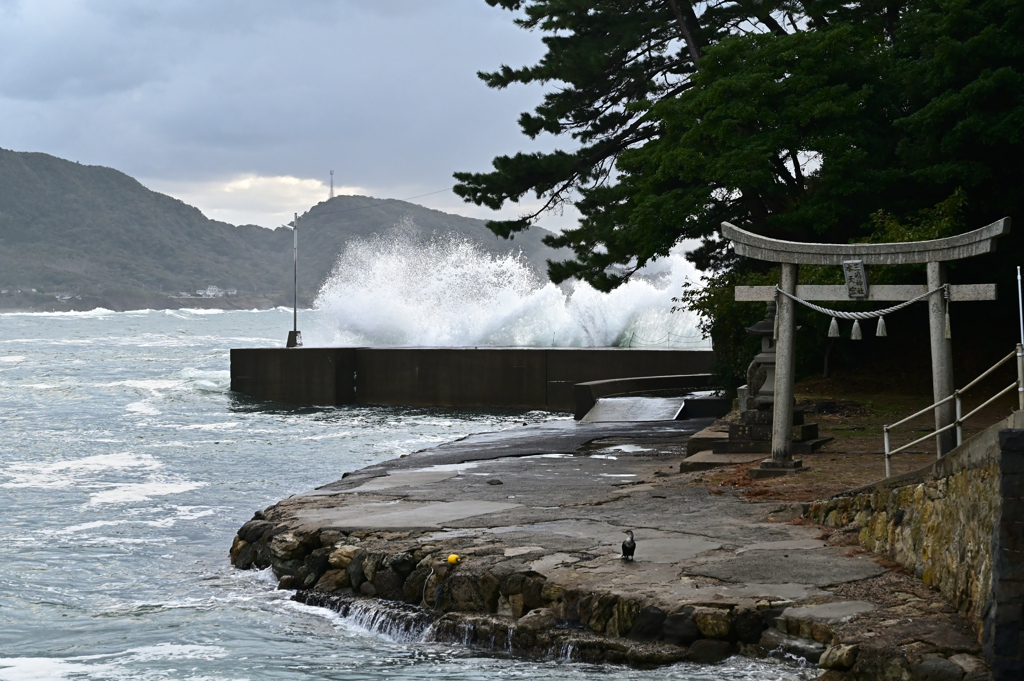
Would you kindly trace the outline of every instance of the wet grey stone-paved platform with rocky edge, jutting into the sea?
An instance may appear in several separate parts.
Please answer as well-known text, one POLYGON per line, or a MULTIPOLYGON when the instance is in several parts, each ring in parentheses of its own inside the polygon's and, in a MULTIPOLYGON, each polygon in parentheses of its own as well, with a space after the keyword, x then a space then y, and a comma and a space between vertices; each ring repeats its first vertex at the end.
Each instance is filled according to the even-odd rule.
POLYGON ((392 629, 524 655, 649 666, 788 653, 829 679, 933 678, 920 676, 933 667, 991 678, 970 625, 856 531, 681 473, 690 436, 712 423, 473 435, 257 512, 231 560, 272 566, 306 603, 376 608, 392 629))

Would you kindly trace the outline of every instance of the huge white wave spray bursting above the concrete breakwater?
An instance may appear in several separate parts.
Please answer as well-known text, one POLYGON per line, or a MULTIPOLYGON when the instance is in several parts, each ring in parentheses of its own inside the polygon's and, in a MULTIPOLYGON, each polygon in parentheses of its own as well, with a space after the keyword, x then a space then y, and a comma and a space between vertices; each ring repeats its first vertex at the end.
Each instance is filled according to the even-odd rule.
POLYGON ((544 281, 519 254, 456 235, 424 243, 399 227, 349 243, 316 296, 306 343, 710 348, 694 315, 671 312, 693 266, 681 251, 657 264, 601 293, 544 281))

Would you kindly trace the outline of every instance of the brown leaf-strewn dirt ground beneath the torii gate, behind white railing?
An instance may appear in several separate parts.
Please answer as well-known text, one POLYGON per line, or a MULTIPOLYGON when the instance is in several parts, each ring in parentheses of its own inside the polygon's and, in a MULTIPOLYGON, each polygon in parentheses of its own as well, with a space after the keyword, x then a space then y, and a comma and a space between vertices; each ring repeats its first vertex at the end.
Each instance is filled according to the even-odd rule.
MULTIPOLYGON (((965 398, 965 414, 1004 387, 996 379, 971 391, 965 398)), ((820 435, 835 438, 813 455, 803 457, 805 471, 755 480, 746 474, 750 465, 730 466, 708 471, 694 483, 709 485, 711 494, 738 487, 740 494, 751 500, 811 502, 882 479, 885 477, 883 426, 932 402, 931 395, 894 394, 891 385, 883 385, 882 380, 869 379, 798 383, 797 408, 804 410, 806 422, 817 423, 820 435)), ((986 407, 965 423, 964 438, 1006 418, 1016 406, 1017 396, 1011 394, 986 407)), ((890 434, 892 446, 900 446, 931 432, 934 424, 934 417, 929 413, 900 426, 890 434)), ((935 459, 935 440, 925 440, 893 457, 893 475, 923 468, 935 459)))

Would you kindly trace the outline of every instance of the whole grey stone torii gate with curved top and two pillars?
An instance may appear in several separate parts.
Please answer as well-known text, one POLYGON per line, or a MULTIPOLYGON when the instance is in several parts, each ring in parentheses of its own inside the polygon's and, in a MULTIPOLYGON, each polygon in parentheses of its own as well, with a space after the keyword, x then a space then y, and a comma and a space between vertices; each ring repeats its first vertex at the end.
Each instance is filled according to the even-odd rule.
MULTIPOLYGON (((952 345, 946 335, 945 297, 950 302, 967 300, 994 300, 994 284, 947 286, 945 263, 995 250, 995 239, 1010 231, 1010 218, 1006 217, 987 226, 967 233, 925 242, 896 244, 807 244, 781 241, 752 233, 730 224, 722 223, 722 233, 732 242, 737 255, 756 260, 777 262, 780 265, 778 289, 778 338, 775 355, 775 398, 772 417, 772 458, 761 463, 765 474, 785 474, 801 468, 802 462, 793 458, 793 383, 795 374, 796 301, 909 301, 928 292, 929 332, 932 350, 932 390, 935 401, 953 392, 952 345), (868 286, 863 275, 865 265, 907 265, 924 263, 928 270, 927 286, 868 286), (841 265, 847 274, 846 286, 800 286, 797 284, 802 264, 841 265), (785 295, 788 294, 788 295, 785 295)), ((775 287, 736 287, 736 301, 771 301, 776 298, 775 287)), ((936 428, 955 420, 954 406, 946 402, 935 410, 936 428)), ((953 448, 952 430, 939 436, 939 456, 953 448)))

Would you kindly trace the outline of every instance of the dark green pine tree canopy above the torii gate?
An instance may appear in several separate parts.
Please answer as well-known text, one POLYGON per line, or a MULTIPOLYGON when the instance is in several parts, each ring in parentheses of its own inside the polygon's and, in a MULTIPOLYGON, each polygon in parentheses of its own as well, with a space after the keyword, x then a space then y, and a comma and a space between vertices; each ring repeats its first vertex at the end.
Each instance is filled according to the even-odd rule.
MULTIPOLYGON (((550 238, 575 257, 552 279, 607 290, 682 239, 729 269, 722 220, 766 235, 846 242, 871 215, 910 216, 958 187, 980 219, 1020 194, 1022 10, 1014 0, 487 0, 541 31, 532 67, 490 87, 552 90, 519 123, 572 151, 499 157, 456 173, 510 237, 565 202, 580 224, 550 238)), ((971 223, 978 220, 972 216, 971 223)))

